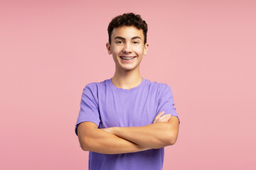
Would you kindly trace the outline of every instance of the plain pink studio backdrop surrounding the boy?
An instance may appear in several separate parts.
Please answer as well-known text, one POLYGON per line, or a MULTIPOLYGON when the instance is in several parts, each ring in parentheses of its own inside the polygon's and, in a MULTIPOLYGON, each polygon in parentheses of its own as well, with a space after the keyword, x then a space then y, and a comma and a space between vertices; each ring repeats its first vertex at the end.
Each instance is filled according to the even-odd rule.
POLYGON ((86 84, 110 79, 107 25, 149 26, 142 77, 181 118, 164 169, 256 169, 255 1, 1 1, 0 169, 87 169, 75 123, 86 84))

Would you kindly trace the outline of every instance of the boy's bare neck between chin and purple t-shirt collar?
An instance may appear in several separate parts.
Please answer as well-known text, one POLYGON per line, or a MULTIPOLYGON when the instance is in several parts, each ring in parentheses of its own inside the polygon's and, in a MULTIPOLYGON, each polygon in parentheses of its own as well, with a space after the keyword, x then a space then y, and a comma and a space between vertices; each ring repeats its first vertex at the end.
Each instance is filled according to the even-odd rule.
POLYGON ((142 76, 139 74, 139 69, 131 71, 122 70, 122 72, 118 72, 116 69, 111 80, 112 84, 118 88, 132 89, 142 83, 142 76))

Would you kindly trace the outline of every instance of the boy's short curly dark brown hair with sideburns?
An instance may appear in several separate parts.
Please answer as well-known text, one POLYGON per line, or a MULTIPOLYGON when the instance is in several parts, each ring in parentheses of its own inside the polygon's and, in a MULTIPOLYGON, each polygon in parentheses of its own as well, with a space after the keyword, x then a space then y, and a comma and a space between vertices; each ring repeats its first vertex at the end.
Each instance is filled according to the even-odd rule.
POLYGON ((144 44, 146 43, 146 33, 148 30, 146 21, 144 21, 140 15, 135 15, 134 13, 124 13, 113 18, 107 28, 110 44, 113 29, 122 26, 134 26, 139 30, 142 29, 144 35, 144 44))

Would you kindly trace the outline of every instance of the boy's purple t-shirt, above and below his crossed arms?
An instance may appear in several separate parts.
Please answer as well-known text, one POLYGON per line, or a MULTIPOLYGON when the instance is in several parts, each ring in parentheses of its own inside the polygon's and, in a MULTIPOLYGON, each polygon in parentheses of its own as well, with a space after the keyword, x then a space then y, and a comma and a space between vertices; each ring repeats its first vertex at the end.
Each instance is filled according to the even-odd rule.
MULTIPOLYGON (((98 128, 138 127, 154 122, 158 113, 178 117, 174 97, 167 84, 142 80, 132 89, 121 89, 111 79, 85 86, 80 103, 79 123, 90 121, 98 128)), ((164 163, 164 147, 126 154, 89 152, 90 170, 160 170, 164 163)))

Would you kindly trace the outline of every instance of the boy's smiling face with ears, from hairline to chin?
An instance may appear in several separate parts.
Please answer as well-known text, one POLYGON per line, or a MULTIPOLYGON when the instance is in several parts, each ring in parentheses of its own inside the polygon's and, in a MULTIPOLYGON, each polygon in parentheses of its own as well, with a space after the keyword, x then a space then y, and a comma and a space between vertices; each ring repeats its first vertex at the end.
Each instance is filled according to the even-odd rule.
POLYGON ((112 56, 117 71, 139 69, 143 55, 149 44, 144 45, 143 30, 134 26, 114 28, 111 35, 111 45, 107 42, 107 52, 112 56))

